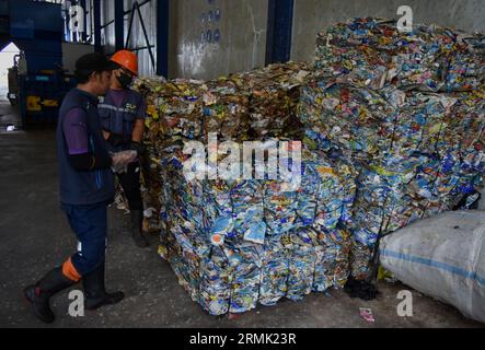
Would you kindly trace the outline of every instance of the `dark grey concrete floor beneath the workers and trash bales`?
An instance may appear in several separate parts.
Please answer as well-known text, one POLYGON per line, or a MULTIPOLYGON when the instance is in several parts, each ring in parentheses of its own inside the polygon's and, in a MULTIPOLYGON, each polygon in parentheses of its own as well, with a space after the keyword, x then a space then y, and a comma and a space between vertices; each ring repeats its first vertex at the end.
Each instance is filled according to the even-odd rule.
POLYGON ((68 315, 68 292, 54 298, 58 315, 54 325, 39 323, 30 313, 22 288, 63 261, 76 240, 59 209, 55 135, 53 130, 5 132, 15 122, 9 105, 0 103, 0 327, 484 327, 457 310, 413 291, 414 316, 399 317, 401 284, 380 284, 372 302, 353 300, 343 291, 309 295, 302 302, 259 307, 236 319, 209 316, 178 285, 170 266, 152 246, 136 248, 128 219, 109 210, 107 287, 123 290, 126 299, 84 317, 68 315), (359 316, 372 308, 374 324, 359 316))

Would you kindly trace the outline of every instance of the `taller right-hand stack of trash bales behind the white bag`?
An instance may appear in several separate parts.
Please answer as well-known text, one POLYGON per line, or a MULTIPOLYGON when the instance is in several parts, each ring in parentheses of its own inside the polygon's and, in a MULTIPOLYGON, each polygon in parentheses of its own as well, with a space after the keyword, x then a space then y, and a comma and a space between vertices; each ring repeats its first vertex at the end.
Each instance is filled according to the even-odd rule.
POLYGON ((302 89, 307 139, 359 172, 350 231, 363 278, 380 235, 476 199, 485 158, 485 37, 437 26, 400 33, 357 19, 319 34, 302 89))

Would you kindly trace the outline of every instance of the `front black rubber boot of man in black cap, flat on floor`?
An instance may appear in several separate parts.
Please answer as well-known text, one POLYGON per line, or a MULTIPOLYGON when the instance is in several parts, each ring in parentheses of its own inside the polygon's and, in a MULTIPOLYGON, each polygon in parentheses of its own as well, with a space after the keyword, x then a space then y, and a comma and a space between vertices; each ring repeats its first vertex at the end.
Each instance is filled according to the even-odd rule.
POLYGON ((97 310, 102 306, 119 303, 125 294, 123 292, 106 293, 104 285, 105 261, 90 273, 82 277, 84 288, 84 307, 86 310, 97 310))

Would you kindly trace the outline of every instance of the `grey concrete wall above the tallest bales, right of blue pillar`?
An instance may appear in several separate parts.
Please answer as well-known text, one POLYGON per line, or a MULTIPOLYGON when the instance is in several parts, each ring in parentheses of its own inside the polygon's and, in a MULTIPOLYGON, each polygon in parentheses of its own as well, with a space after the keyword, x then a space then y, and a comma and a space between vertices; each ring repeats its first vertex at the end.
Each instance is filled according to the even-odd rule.
POLYGON ((412 7, 415 23, 485 33, 485 0, 295 0, 291 58, 312 59, 316 34, 328 25, 357 16, 397 19, 403 4, 412 7))

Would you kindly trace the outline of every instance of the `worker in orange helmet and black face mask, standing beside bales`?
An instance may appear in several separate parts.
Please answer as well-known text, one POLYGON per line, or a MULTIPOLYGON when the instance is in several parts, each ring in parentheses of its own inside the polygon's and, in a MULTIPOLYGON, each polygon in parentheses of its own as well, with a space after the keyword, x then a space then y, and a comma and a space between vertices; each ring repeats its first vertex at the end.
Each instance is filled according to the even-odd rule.
MULTIPOLYGON (((99 105, 103 135, 111 152, 135 150, 141 156, 145 152, 142 137, 147 105, 143 97, 130 89, 138 75, 137 55, 117 51, 111 59, 118 69, 113 71, 111 89, 99 105)), ((140 191, 140 162, 129 164, 127 172, 117 174, 128 199, 131 219, 131 235, 137 246, 147 247, 142 232, 143 203, 140 191)))

